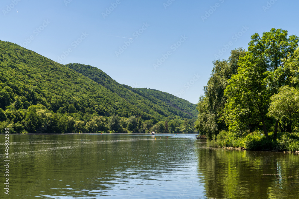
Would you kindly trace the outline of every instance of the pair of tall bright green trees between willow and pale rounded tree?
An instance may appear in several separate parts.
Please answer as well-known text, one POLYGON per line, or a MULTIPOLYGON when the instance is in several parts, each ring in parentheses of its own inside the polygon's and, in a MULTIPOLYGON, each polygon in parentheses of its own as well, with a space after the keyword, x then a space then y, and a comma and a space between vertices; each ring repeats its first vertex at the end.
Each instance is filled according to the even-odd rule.
MULTIPOLYGON (((279 87, 288 84, 288 72, 283 72, 282 59, 292 56, 297 46, 298 37, 287 38, 286 30, 273 28, 263 33, 262 37, 257 33, 251 36, 248 52, 239 61, 238 74, 232 75, 230 85, 225 90, 228 97, 225 117, 230 127, 262 123, 268 139, 266 120, 270 96, 279 87)), ((274 136, 277 124, 278 121, 274 136)))

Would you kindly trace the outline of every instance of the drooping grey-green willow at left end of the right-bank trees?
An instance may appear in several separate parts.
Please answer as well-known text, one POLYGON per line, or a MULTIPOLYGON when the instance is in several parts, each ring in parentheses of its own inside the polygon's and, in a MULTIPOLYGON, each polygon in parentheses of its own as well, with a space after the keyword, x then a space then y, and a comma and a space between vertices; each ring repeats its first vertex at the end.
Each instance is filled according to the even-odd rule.
POLYGON ((204 87, 205 96, 199 98, 196 120, 196 129, 207 135, 209 139, 218 135, 221 130, 227 129, 227 125, 220 118, 221 111, 227 97, 224 95, 228 80, 231 75, 237 74, 239 58, 245 55, 242 48, 231 51, 228 60, 213 61, 213 70, 207 86, 204 87))

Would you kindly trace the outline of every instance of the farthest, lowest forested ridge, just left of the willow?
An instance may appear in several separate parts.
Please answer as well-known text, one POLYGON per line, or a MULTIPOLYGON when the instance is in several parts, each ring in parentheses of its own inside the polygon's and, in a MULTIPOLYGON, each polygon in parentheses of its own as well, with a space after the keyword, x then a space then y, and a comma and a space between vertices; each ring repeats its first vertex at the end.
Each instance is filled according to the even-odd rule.
POLYGON ((187 100, 178 98, 174 95, 171 95, 167 92, 155 90, 155 89, 147 89, 147 88, 136 88, 136 90, 141 91, 147 95, 153 96, 161 101, 170 104, 170 106, 181 110, 193 117, 197 117, 198 111, 196 110, 196 104, 192 104, 187 100))

